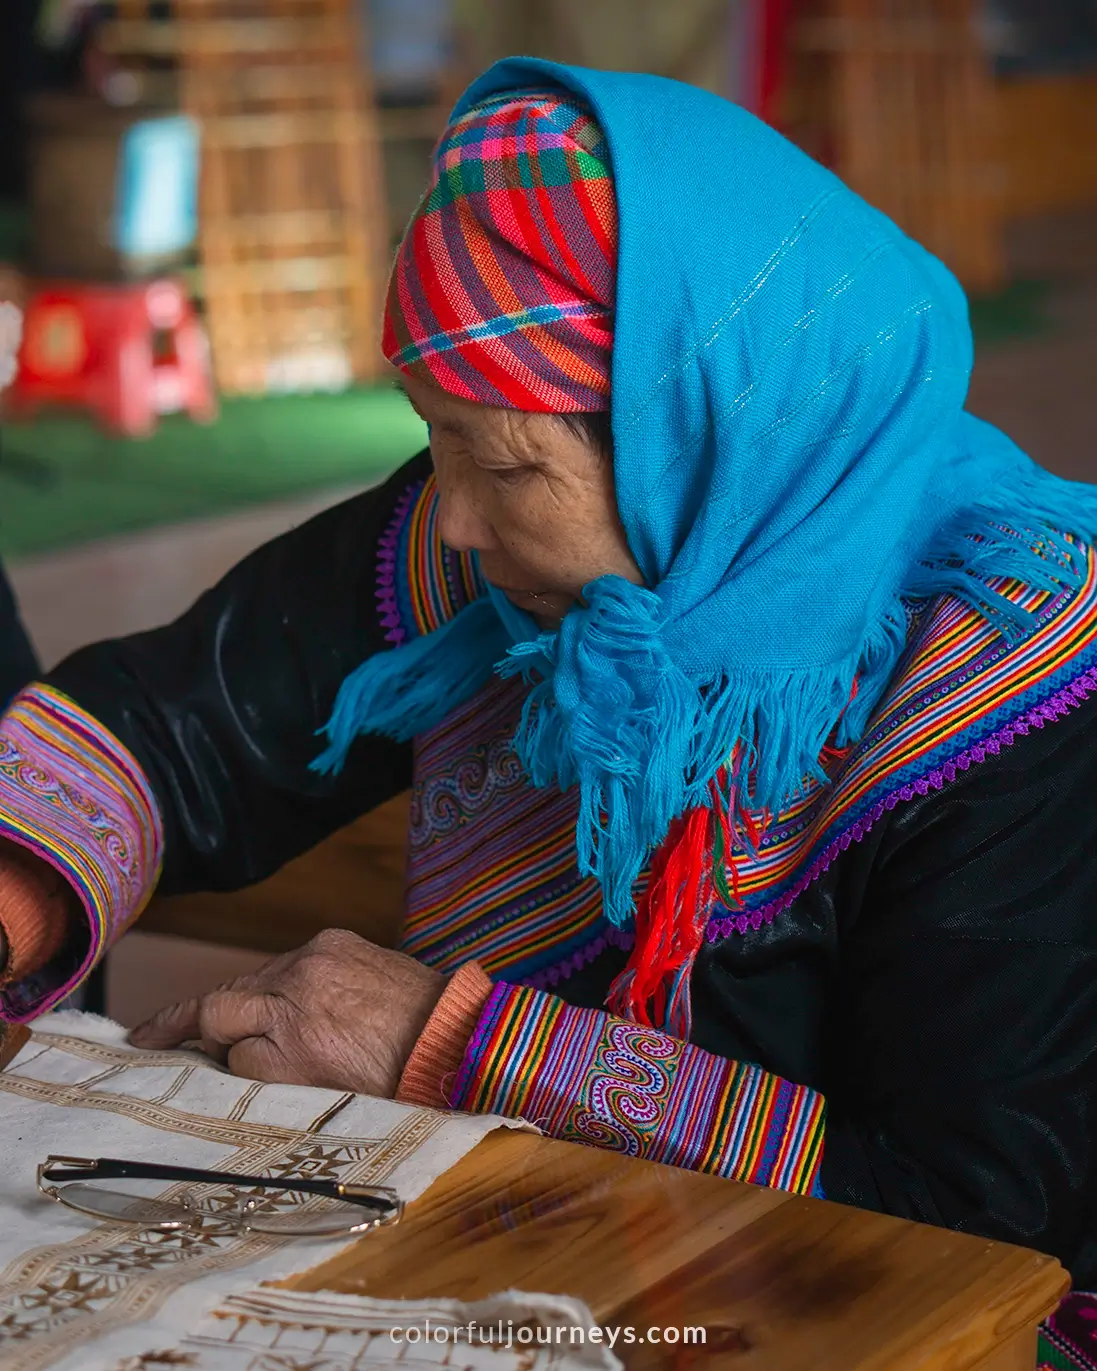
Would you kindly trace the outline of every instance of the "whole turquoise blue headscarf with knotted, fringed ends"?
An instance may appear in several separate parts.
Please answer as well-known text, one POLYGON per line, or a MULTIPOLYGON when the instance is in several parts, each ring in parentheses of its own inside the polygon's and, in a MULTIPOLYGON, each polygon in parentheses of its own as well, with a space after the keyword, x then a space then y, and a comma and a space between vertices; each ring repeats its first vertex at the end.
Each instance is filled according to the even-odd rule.
POLYGON ((579 787, 580 866, 625 924, 643 862, 732 755, 725 799, 779 809, 835 731, 860 736, 906 600, 950 590, 1023 635, 986 579, 1076 583, 1061 535, 1093 536, 1097 491, 964 411, 956 280, 772 129, 660 77, 532 59, 455 114, 546 84, 587 101, 610 151, 614 473, 646 585, 592 583, 553 633, 496 595, 373 658, 317 765, 524 673, 518 755, 536 784, 579 787))

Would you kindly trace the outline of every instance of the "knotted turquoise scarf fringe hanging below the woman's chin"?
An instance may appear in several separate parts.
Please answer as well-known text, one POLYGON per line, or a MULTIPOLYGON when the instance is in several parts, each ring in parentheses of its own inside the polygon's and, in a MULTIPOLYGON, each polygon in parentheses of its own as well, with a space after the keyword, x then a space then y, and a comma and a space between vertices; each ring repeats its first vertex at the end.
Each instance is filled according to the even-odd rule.
POLYGON ((697 684, 661 627, 655 595, 605 577, 558 635, 517 644, 499 668, 531 686, 516 750, 533 784, 579 790, 579 868, 602 884, 618 928, 632 923, 634 886, 651 853, 680 816, 709 812, 713 786, 742 842, 743 812, 777 812, 810 780, 825 781, 821 755, 835 725, 867 714, 906 640, 897 603, 836 669, 724 672, 697 684), (736 749, 740 765, 731 768, 736 749))

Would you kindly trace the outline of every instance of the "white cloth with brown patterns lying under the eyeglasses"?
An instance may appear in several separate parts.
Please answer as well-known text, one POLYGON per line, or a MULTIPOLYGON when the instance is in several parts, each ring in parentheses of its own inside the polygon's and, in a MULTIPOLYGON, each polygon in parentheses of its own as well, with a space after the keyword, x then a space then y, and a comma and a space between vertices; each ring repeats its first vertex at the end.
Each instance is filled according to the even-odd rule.
POLYGON ((129 1047, 108 1020, 49 1015, 0 1072, 0 1367, 115 1371, 347 1241, 237 1234, 217 1217, 218 1196, 229 1202, 217 1189, 199 1228, 99 1224, 37 1193, 48 1153, 383 1183, 407 1201, 507 1121, 258 1084, 199 1053, 129 1047))

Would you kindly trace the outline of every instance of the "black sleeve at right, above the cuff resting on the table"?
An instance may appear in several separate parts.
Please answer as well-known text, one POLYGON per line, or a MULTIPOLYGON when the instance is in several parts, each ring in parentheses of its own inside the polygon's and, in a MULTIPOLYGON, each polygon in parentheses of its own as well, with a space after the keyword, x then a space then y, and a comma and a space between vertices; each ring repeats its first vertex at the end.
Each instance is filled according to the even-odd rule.
POLYGON ((827 1196, 1097 1279, 1097 699, 900 806, 843 941, 827 1196))

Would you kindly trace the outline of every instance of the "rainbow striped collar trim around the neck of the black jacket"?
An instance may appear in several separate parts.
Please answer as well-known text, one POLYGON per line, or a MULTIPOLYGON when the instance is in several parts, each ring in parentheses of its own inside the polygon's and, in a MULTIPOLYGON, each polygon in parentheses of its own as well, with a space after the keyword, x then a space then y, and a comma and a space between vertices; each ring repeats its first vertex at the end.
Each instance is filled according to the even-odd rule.
MULTIPOLYGON (((409 636, 483 594, 472 559, 447 568, 436 502, 433 481, 417 488, 388 554, 394 625, 409 636)), ((949 596, 912 613, 908 653, 832 784, 809 787, 756 851, 735 849, 742 908, 714 905, 709 941, 772 923, 898 803, 943 788, 1097 691, 1097 554, 1085 555, 1076 590, 991 583, 1033 613, 1020 643, 949 596)), ((521 773, 511 739, 522 699, 518 681, 492 681, 417 739, 406 950, 443 969, 477 958, 491 975, 547 988, 632 935, 610 928, 596 887, 576 871, 575 795, 538 791, 521 773)))

